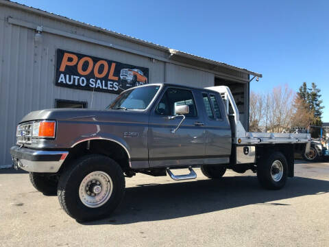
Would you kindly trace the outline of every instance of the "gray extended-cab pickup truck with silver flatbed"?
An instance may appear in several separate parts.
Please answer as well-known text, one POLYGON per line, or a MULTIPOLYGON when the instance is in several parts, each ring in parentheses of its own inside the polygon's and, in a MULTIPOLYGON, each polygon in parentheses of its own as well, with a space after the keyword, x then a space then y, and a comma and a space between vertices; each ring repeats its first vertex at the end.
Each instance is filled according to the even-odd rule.
POLYGON ((11 148, 14 167, 34 187, 57 193, 79 221, 106 217, 121 202, 125 177, 140 172, 174 180, 208 178, 226 169, 257 173, 280 189, 293 177, 294 152, 309 150, 309 134, 246 132, 230 89, 148 84, 123 91, 105 110, 49 109, 27 114, 11 148), (188 169, 175 175, 173 169, 188 169))

